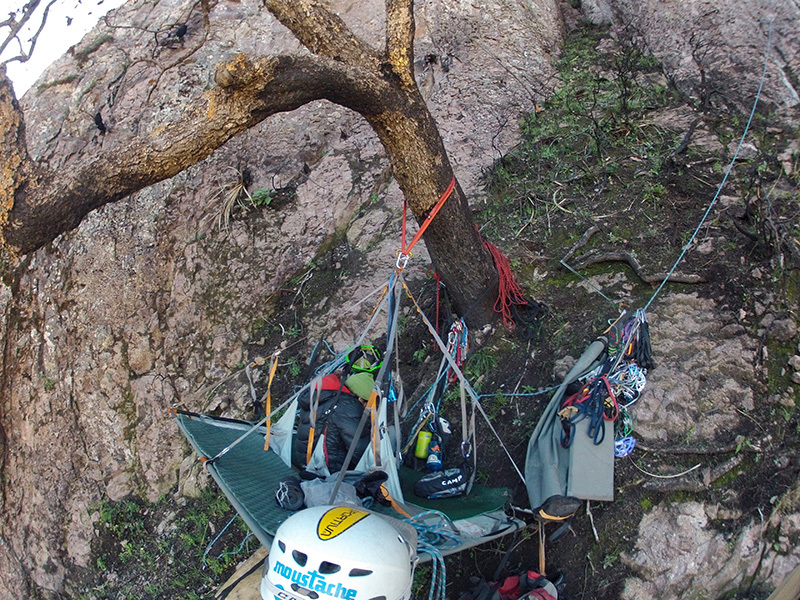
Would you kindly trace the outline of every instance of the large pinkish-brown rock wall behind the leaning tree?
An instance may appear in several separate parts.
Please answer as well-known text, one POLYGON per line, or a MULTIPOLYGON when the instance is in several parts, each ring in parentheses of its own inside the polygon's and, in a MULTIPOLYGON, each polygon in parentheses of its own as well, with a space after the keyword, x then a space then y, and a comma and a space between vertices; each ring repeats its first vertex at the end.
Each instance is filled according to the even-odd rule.
MULTIPOLYGON (((102 144, 97 111, 105 136, 134 121, 152 133, 173 107, 202 94, 220 60, 300 51, 260 2, 211 3, 208 29, 198 6, 131 2, 110 14, 23 99, 31 155, 58 164, 102 144), (154 43, 152 30, 182 21, 183 44, 154 43), (138 119, 142 110, 148 119, 138 119)), ((379 45, 381 3, 334 8, 379 45)), ((520 117, 552 91, 561 15, 552 0, 419 2, 416 10, 420 87, 462 186, 477 190, 482 170, 517 142, 520 117)), ((1 290, 0 597, 74 592, 74 575, 88 567, 97 502, 130 493, 155 500, 187 470, 169 407, 208 407, 208 391, 243 364, 252 324, 273 295, 337 233, 390 269, 400 208, 366 123, 317 103, 95 212, 31 256, 13 289, 1 290), (280 193, 268 207, 237 207, 220 228, 226 186, 244 169, 251 190, 280 193)), ((372 289, 385 274, 358 285, 372 289)), ((338 301, 359 291, 351 286, 338 301)), ((337 335, 352 339, 347 327, 337 335)))

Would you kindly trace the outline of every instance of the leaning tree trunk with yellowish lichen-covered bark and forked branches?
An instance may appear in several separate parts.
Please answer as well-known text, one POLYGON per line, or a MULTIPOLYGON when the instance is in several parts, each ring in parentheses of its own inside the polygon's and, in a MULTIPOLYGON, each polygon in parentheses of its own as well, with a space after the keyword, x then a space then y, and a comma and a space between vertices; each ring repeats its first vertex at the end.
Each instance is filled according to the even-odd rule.
MULTIPOLYGON (((0 242, 6 250, 28 254, 77 227, 89 212, 173 177, 267 117, 321 99, 360 113, 373 126, 411 211, 424 220, 455 175, 414 79, 413 2, 387 4, 382 51, 318 2, 275 0, 265 6, 309 54, 239 53, 218 66, 216 85, 175 118, 145 135, 100 131, 102 144, 83 148, 55 168, 27 159, 19 144, 4 146, 5 171, 27 174, 9 180, 3 192, 9 196, 0 204, 0 242)), ((14 117, 7 135, 14 136, 24 126, 22 115, 13 96, 4 105, 14 117)), ((456 309, 483 324, 492 318, 496 276, 471 223, 459 187, 426 239, 456 309)))

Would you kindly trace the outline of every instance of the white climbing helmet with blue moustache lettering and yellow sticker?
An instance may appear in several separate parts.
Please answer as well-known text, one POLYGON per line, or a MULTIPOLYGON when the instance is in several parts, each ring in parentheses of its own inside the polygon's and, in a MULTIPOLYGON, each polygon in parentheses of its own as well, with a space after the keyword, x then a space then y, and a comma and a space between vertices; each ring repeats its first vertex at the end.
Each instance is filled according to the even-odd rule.
POLYGON ((409 535, 400 527, 352 506, 315 506, 293 514, 275 532, 261 597, 410 600, 416 532, 411 528, 409 535))

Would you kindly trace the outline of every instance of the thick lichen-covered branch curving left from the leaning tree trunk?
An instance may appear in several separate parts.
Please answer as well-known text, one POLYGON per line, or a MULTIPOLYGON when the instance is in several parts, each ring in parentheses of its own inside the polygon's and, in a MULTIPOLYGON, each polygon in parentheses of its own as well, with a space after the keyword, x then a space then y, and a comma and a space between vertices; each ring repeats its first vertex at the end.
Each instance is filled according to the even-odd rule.
POLYGON ((79 154, 57 170, 27 159, 16 101, 0 102, 0 116, 19 116, 16 127, 3 119, 0 130, 0 191, 13 194, 0 197, 2 245, 11 254, 31 252, 77 227, 90 211, 173 177, 276 113, 326 99, 368 116, 391 108, 396 97, 373 73, 312 55, 250 60, 240 54, 217 68, 215 81, 217 87, 149 137, 109 136, 101 153, 79 154), (23 170, 29 175, 20 180, 23 170))

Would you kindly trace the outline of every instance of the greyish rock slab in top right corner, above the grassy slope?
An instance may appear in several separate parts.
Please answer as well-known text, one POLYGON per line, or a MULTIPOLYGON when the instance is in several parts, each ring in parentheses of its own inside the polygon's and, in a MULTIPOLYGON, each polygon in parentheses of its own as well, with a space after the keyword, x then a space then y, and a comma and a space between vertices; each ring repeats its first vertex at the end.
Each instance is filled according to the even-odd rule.
POLYGON ((749 112, 766 63, 764 105, 786 111, 800 104, 796 2, 584 0, 581 7, 596 23, 624 27, 699 102, 749 112))

